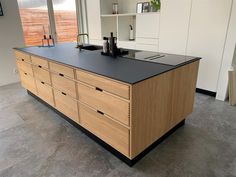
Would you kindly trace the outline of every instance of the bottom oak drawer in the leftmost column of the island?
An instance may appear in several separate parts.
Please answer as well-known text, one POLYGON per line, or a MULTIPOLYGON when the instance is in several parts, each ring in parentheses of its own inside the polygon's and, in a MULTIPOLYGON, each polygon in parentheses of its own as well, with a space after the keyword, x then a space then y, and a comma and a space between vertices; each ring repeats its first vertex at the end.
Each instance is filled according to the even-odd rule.
POLYGON ((21 85, 25 89, 27 89, 27 90, 31 91, 32 93, 34 93, 35 95, 37 95, 37 90, 36 90, 34 78, 22 70, 19 70, 19 73, 20 73, 21 85))

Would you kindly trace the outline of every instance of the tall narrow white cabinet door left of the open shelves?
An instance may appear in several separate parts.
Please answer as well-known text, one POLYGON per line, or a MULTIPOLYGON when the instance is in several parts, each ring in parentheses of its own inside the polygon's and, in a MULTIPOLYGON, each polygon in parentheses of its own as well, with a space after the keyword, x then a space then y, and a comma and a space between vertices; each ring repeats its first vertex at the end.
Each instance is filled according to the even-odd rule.
POLYGON ((86 0, 86 3, 89 39, 101 40, 100 0, 86 0))

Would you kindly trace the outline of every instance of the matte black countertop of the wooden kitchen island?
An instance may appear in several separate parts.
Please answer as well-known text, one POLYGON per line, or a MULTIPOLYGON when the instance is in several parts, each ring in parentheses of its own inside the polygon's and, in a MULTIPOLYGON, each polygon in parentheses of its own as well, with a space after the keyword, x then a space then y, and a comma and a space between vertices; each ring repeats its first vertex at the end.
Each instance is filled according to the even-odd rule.
POLYGON ((170 55, 167 57, 186 58, 181 65, 171 66, 151 63, 128 58, 101 55, 101 51, 86 51, 75 48, 76 43, 61 43, 55 47, 26 47, 15 48, 51 61, 63 63, 75 68, 119 80, 128 84, 135 84, 150 77, 168 72, 179 66, 199 60, 198 57, 170 55))

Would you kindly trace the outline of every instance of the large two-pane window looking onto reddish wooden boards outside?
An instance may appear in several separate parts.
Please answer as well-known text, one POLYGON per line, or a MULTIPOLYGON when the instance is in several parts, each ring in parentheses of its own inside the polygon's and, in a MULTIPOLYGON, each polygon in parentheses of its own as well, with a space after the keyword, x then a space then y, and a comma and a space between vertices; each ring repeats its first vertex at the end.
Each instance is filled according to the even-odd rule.
POLYGON ((44 32, 55 32, 57 42, 76 41, 75 0, 18 0, 18 5, 27 46, 41 45, 44 32))

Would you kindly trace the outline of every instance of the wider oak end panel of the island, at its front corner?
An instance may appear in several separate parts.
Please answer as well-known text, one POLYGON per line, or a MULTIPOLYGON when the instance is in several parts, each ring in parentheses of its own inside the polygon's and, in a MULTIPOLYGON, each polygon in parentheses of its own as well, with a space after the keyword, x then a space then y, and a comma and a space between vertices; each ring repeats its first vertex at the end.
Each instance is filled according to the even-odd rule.
POLYGON ((160 138, 171 120, 172 77, 168 72, 132 87, 132 158, 160 138))

